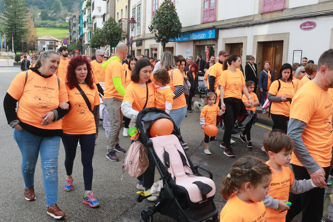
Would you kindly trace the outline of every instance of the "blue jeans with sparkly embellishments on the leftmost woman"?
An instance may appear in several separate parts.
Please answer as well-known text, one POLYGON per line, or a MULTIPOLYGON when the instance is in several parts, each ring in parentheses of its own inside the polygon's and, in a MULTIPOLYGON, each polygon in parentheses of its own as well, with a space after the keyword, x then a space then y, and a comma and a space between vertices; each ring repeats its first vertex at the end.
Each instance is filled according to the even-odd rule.
POLYGON ((40 137, 24 129, 14 129, 13 136, 22 154, 21 171, 24 187, 29 188, 35 185, 35 167, 38 160, 38 153, 40 152, 46 206, 56 204, 58 200, 58 155, 60 136, 40 137))

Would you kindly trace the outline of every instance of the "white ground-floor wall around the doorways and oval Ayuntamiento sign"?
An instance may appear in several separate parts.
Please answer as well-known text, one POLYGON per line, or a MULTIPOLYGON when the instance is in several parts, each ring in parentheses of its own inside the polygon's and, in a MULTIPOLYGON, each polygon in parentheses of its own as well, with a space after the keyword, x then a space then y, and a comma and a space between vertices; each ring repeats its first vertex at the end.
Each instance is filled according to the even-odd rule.
POLYGON ((222 38, 247 36, 246 55, 252 55, 254 35, 289 33, 288 52, 283 52, 288 53, 287 62, 292 63, 294 50, 302 50, 302 57, 307 57, 309 60, 313 60, 317 63, 320 55, 325 50, 329 49, 331 29, 333 28, 331 19, 332 17, 321 17, 309 20, 303 19, 245 28, 219 30, 218 49, 216 51, 218 52, 222 49, 222 38), (309 31, 301 30, 299 26, 306 21, 316 22, 316 28, 309 31))

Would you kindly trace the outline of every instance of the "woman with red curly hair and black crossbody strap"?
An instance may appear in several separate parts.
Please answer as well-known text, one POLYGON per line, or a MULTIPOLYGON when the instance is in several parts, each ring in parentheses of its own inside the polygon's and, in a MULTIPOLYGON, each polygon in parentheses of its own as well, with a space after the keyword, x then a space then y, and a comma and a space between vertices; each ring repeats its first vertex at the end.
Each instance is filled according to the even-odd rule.
POLYGON ((76 147, 80 140, 85 185, 83 203, 96 207, 100 205, 100 202, 95 199, 91 187, 93 180, 92 160, 100 120, 100 99, 87 56, 79 55, 71 59, 67 67, 65 85, 72 109, 62 121, 64 131, 62 141, 66 153, 65 168, 67 173, 64 189, 66 191, 73 190, 73 163, 76 147))

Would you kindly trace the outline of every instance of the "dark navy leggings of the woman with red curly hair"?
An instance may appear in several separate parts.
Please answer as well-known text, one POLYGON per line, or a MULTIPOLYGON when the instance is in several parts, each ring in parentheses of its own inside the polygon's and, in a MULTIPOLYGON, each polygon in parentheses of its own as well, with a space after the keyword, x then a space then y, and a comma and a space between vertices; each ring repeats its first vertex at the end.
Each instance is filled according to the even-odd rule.
POLYGON ((95 150, 95 133, 88 135, 62 135, 65 147, 65 168, 66 174, 73 172, 73 163, 76 155, 76 148, 80 139, 81 162, 83 165, 83 180, 85 190, 91 190, 93 181, 93 156, 95 150))

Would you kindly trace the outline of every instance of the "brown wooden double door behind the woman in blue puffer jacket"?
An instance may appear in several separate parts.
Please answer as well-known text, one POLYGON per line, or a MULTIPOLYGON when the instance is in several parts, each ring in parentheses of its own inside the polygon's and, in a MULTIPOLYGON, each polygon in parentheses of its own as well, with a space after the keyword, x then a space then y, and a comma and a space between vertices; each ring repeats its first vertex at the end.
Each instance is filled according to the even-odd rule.
POLYGON ((262 63, 265 61, 270 62, 270 70, 272 70, 274 80, 276 80, 282 66, 282 51, 283 41, 264 43, 262 63))

